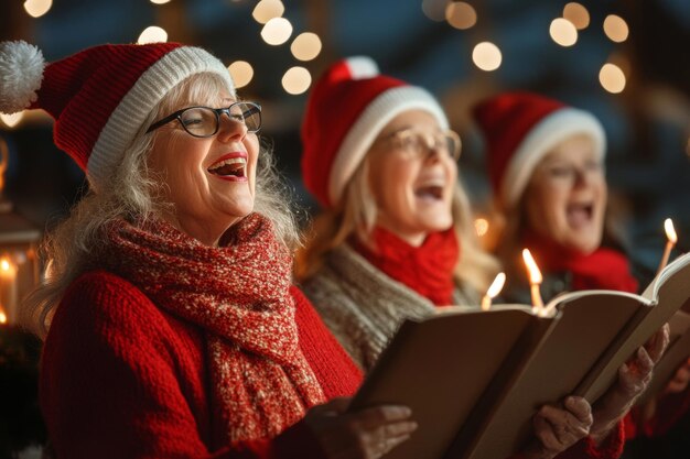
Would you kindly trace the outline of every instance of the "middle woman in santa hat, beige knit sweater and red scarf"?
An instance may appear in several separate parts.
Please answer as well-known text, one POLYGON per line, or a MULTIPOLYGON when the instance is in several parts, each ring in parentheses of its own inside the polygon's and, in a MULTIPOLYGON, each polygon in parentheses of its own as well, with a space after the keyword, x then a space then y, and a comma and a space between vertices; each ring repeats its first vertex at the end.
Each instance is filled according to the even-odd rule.
MULTIPOLYGON (((497 263, 475 240, 460 139, 427 90, 380 75, 368 57, 337 62, 310 95, 302 141, 304 184, 322 211, 298 280, 363 370, 403 318, 479 304, 497 263)), ((612 457, 579 442, 591 420, 582 398, 547 405, 516 457, 612 457)))

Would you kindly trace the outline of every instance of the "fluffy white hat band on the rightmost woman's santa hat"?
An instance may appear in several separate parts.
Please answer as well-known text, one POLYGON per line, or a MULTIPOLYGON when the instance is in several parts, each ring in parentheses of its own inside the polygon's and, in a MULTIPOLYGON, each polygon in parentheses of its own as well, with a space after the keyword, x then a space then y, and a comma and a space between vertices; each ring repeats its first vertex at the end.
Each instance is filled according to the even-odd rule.
POLYGON ((500 197, 506 210, 521 198, 539 162, 554 146, 569 136, 587 134, 594 142, 594 152, 603 160, 606 152, 604 129, 594 116, 575 108, 562 108, 537 123, 522 139, 513 154, 500 186, 500 197))

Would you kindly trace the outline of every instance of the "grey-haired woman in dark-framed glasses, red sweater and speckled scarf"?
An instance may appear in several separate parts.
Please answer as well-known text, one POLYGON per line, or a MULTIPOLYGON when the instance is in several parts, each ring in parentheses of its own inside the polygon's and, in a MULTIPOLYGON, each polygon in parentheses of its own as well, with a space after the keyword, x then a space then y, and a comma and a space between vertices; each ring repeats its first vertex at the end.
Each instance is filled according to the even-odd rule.
POLYGON ((261 109, 223 63, 157 43, 45 65, 6 42, 0 94, 2 112, 55 118, 90 188, 25 310, 55 457, 378 458, 409 437, 408 408, 334 398, 362 374, 291 285, 261 109))

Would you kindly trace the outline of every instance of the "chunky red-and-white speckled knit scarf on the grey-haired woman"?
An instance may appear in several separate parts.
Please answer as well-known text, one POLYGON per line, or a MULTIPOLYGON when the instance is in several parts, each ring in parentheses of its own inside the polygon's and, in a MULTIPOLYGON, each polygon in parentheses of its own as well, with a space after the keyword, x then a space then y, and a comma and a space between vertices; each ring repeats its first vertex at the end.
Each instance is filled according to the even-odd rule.
POLYGON ((118 221, 98 260, 205 330, 224 444, 274 437, 324 400, 298 342, 289 250, 258 214, 231 231, 214 248, 163 221, 118 221))

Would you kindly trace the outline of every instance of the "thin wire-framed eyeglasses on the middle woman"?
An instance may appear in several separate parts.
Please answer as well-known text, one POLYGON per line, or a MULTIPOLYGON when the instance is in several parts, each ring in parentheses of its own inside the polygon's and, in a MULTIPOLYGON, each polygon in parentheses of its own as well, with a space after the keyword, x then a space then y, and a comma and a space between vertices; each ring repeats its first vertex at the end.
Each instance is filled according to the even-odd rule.
POLYGON ((445 130, 433 133, 413 128, 402 129, 382 140, 389 140, 396 150, 414 157, 427 157, 431 152, 445 153, 454 161, 460 160, 461 141, 455 131, 445 130))

